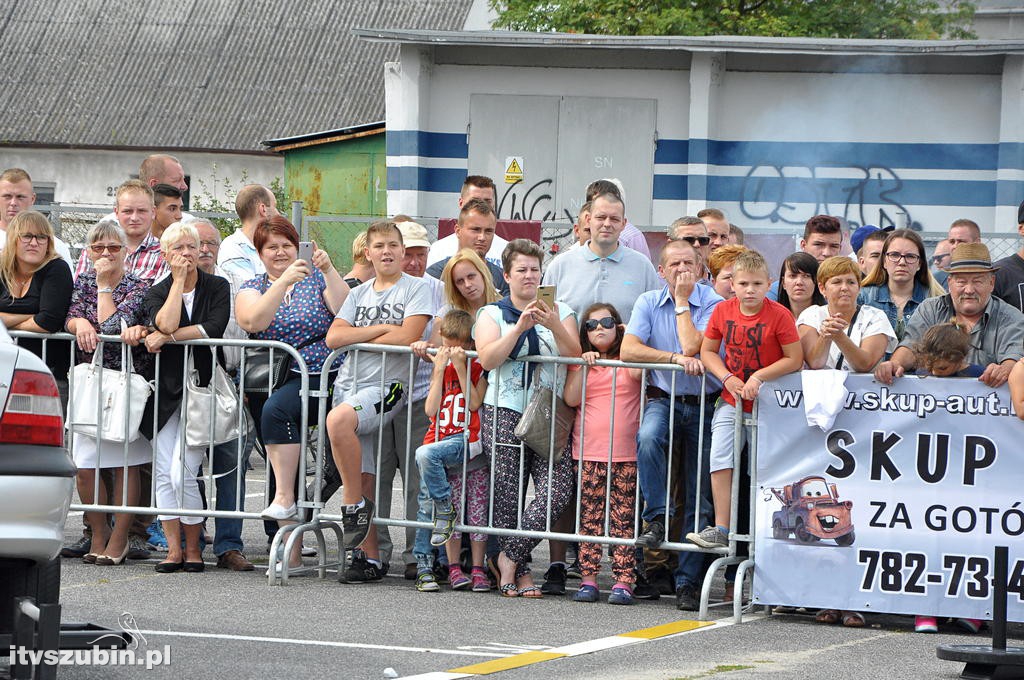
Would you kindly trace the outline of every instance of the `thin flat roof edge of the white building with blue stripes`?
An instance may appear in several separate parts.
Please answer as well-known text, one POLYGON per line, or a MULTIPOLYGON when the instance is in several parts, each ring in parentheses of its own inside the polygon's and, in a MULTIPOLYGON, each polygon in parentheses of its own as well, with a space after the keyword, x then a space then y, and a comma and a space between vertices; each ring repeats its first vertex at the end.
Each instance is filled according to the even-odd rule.
POLYGON ((677 49, 693 52, 775 52, 801 54, 1020 54, 1024 40, 845 40, 762 36, 595 36, 517 31, 436 31, 356 29, 368 41, 481 47, 572 47, 596 49, 677 49))

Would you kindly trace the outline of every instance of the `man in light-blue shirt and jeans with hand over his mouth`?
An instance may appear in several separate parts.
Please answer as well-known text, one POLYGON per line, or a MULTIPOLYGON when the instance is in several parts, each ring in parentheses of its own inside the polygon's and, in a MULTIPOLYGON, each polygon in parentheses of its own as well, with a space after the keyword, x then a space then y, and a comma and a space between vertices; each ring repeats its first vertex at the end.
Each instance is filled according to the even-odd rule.
MULTIPOLYGON (((698 284, 700 256, 686 241, 671 241, 662 250, 658 272, 668 282, 660 290, 641 295, 623 339, 622 358, 647 364, 676 364, 685 373, 652 371, 648 374, 647 406, 637 433, 637 474, 644 497, 646 522, 637 544, 657 548, 665 540, 673 509, 669 503, 670 425, 673 438, 683 440, 683 526, 694 525, 697 506, 697 463, 700 465, 700 518, 711 516, 711 421, 722 386, 713 377, 702 377, 703 365, 696 357, 711 312, 722 301, 713 288, 698 284), (701 407, 701 400, 703 401, 701 407), (701 428, 703 431, 700 444, 701 428), (699 458, 698 458, 699 456, 699 458)), ((673 480, 673 484, 678 480, 673 480)), ((683 529, 687 530, 687 529, 683 529)), ((682 537, 679 537, 682 538, 682 537)), ((676 606, 697 608, 697 585, 703 555, 684 552, 676 569, 676 606)))

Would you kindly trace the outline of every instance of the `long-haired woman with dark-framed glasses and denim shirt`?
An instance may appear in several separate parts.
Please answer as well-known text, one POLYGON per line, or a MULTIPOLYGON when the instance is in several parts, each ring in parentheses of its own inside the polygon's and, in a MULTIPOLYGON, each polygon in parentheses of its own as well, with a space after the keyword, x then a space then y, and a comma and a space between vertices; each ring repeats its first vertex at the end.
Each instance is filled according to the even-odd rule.
POLYGON ((882 256, 861 283, 857 303, 886 312, 896 338, 902 340, 918 305, 944 294, 928 270, 925 242, 910 229, 896 229, 886 239, 882 256))

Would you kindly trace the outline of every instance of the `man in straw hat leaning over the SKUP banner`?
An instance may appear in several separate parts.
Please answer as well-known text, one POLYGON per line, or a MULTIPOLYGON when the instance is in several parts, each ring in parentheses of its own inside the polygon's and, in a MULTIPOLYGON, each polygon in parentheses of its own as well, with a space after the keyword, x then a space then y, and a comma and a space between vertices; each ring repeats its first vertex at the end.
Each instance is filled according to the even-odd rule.
POLYGON ((874 377, 887 385, 916 368, 914 344, 932 326, 955 322, 971 336, 970 364, 985 367, 979 380, 989 387, 1007 382, 1010 370, 1024 350, 1024 314, 992 297, 995 267, 988 248, 964 243, 949 260, 949 294, 925 300, 907 324, 906 335, 892 358, 874 368, 874 377))

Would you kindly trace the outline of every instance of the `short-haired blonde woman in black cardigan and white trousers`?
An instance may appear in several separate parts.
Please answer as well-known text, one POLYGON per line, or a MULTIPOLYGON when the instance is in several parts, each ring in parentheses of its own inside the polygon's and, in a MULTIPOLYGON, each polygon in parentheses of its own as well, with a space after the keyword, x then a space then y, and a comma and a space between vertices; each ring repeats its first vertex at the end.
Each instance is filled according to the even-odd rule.
MULTIPOLYGON (((161 235, 161 250, 171 274, 150 289, 142 303, 143 316, 151 320, 151 332, 145 337, 146 348, 160 353, 160 375, 157 392, 142 417, 142 434, 153 437, 157 430, 154 491, 158 508, 180 507, 199 510, 203 501, 199 494, 197 474, 203 463, 203 448, 184 442, 182 405, 182 371, 185 347, 173 344, 179 340, 220 338, 224 335, 231 308, 230 286, 220 277, 199 269, 199 232, 195 226, 175 222, 161 235), (159 408, 154 402, 159 395, 159 408), (182 458, 184 459, 182 461, 182 458)), ((213 374, 213 353, 205 347, 190 352, 199 383, 208 385, 213 374)), ((203 570, 203 555, 199 546, 202 517, 160 515, 167 537, 167 559, 157 564, 157 571, 184 569, 203 570), (184 554, 181 534, 184 533, 184 554)))

